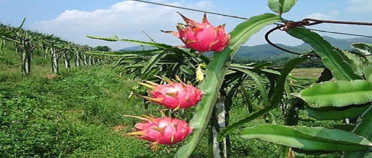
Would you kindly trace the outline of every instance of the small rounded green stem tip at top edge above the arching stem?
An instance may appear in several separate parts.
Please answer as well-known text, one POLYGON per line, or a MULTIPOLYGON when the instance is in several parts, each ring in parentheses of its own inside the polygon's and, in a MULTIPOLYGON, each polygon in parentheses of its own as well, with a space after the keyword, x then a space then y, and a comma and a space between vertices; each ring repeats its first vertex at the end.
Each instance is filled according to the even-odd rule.
POLYGON ((291 10, 293 5, 296 4, 296 1, 297 0, 267 0, 267 5, 272 11, 281 15, 291 10))

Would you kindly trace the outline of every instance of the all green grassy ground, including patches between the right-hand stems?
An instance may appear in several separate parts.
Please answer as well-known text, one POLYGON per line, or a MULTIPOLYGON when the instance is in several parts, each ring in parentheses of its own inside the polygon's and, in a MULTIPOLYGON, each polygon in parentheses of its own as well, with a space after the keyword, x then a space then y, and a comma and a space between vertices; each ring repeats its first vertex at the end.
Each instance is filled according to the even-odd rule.
MULTIPOLYGON (((29 77, 20 75, 16 56, 8 55, 0 61, 0 158, 173 158, 182 143, 162 146, 154 153, 146 142, 124 136, 139 120, 123 115, 159 116, 161 109, 151 104, 146 110, 143 99, 128 98, 136 81, 120 78, 109 66, 70 71, 61 68, 59 74, 52 76, 46 60, 36 56, 29 77)), ((299 74, 304 71, 302 77, 309 77, 321 69, 296 69, 292 73, 301 77, 299 74)), ((242 102, 234 101, 230 122, 248 116, 242 102)), ((187 120, 193 109, 181 112, 177 117, 187 120)), ((272 113, 277 123, 283 123, 280 109, 272 113)), ((305 114, 302 118, 308 119, 305 114)), ((244 127, 260 123, 265 123, 264 118, 244 127)), ((326 126, 334 122, 301 123, 326 126)), ((278 157, 279 145, 245 140, 239 134, 240 130, 231 134, 231 158, 278 157)), ((209 156, 208 136, 206 131, 193 158, 209 156)))

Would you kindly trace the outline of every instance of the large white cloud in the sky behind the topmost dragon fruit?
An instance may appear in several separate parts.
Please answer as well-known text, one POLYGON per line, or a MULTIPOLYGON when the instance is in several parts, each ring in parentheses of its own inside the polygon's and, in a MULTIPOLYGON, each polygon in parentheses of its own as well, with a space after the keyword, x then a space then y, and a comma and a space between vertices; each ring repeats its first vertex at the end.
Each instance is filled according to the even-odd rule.
MULTIPOLYGON (((164 0, 161 2, 166 3, 164 0)), ((182 1, 167 4, 204 10, 214 8, 212 1, 209 0, 201 0, 196 3, 182 1)), ((144 30, 158 42, 176 45, 182 43, 175 37, 159 31, 176 30, 176 24, 183 22, 176 11, 181 11, 187 17, 196 21, 201 21, 202 13, 125 0, 107 9, 94 11, 65 10, 55 19, 37 22, 32 28, 77 43, 86 43, 92 46, 109 45, 114 49, 132 46, 132 44, 92 40, 85 36, 111 37, 112 35, 118 35, 124 39, 148 41, 149 39, 141 33, 141 30, 144 30)), ((210 20, 213 22, 213 18, 210 20)))

